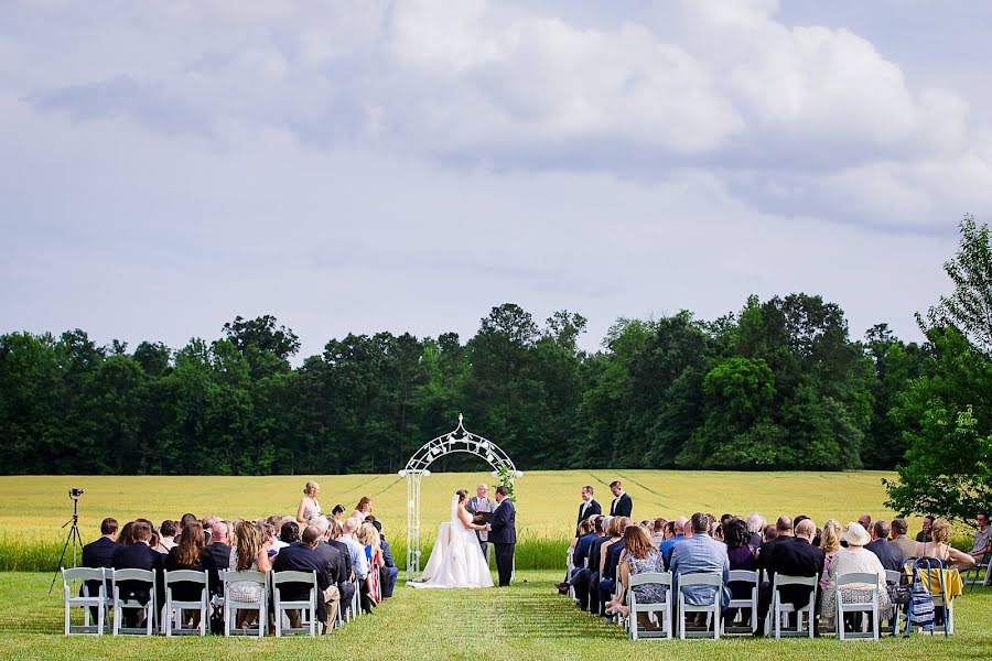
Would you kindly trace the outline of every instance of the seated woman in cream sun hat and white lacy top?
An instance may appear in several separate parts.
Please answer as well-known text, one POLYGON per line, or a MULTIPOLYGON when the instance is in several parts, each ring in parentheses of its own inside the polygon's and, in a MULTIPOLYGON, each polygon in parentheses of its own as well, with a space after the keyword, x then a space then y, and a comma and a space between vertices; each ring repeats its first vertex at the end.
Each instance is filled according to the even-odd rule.
POLYGON ((871 598, 871 590, 878 587, 878 618, 888 619, 892 617, 892 603, 888 599, 888 590, 885 589, 885 568, 878 561, 878 556, 865 549, 864 546, 871 541, 867 531, 861 523, 848 523, 844 529, 843 540, 848 542, 845 549, 837 552, 833 562, 830 563, 828 572, 829 582, 827 590, 823 593, 823 605, 820 613, 827 619, 827 626, 841 626, 837 622, 837 599, 838 585, 837 577, 841 574, 865 573, 875 574, 877 583, 850 583, 840 589, 844 593, 847 600, 862 600, 871 598))

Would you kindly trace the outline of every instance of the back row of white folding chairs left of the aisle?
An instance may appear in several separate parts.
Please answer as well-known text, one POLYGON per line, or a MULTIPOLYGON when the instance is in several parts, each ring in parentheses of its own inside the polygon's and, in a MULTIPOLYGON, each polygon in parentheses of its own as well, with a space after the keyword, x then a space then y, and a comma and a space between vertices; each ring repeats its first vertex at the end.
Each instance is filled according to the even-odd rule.
MULTIPOLYGON (((222 571, 220 581, 224 584, 223 596, 212 596, 209 576, 207 572, 191 570, 164 571, 162 573, 165 587, 165 603, 159 609, 157 595, 155 573, 148 570, 112 570, 76 567, 62 570, 62 584, 65 600, 65 635, 75 633, 101 636, 110 632, 114 636, 140 633, 152 636, 160 624, 161 631, 165 636, 198 635, 205 636, 211 622, 211 613, 218 609, 224 614, 224 635, 231 636, 246 633, 262 637, 268 628, 269 595, 272 595, 272 611, 276 622, 276 636, 288 633, 309 633, 315 636, 323 625, 316 618, 317 599, 323 594, 317 587, 314 572, 269 572, 257 571, 222 571), (75 589, 74 584, 82 583, 82 589, 75 589), (127 599, 121 595, 120 584, 144 583, 149 586, 149 599, 142 604, 134 599, 127 599), (257 602, 239 602, 230 598, 230 585, 237 582, 256 583, 260 586, 261 598, 257 602), (90 593, 90 583, 98 585, 96 594, 90 593), (180 600, 174 598, 173 586, 176 583, 196 584, 201 586, 200 598, 195 600, 180 600), (282 598, 281 587, 288 583, 310 584, 306 599, 287 600, 282 598), (83 624, 72 624, 73 608, 83 608, 83 624), (142 627, 126 627, 123 611, 133 610, 143 615, 142 627), (183 611, 195 610, 200 614, 200 624, 196 627, 184 627, 183 611), (257 610, 257 626, 246 629, 235 627, 239 610, 257 610), (300 611, 301 626, 288 626, 290 619, 287 611, 300 611), (111 617, 112 614, 112 617, 111 617)), ((357 586, 356 586, 357 587, 357 586)), ((359 590, 349 604, 341 604, 337 610, 338 626, 351 621, 360 613, 359 590)))

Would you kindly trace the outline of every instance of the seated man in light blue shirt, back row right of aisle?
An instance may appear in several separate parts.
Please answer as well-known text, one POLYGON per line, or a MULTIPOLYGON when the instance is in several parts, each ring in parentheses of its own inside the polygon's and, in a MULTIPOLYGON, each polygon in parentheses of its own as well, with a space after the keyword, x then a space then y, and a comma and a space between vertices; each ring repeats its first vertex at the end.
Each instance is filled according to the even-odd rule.
MULTIPOLYGON (((726 544, 715 541, 707 534, 710 519, 702 512, 696 512, 689 520, 692 537, 687 537, 671 549, 672 590, 679 594, 679 576, 682 574, 718 574, 723 578, 720 594, 720 608, 726 610, 730 603, 730 559, 726 556, 726 544)), ((715 588, 712 585, 690 585, 682 590, 686 604, 703 606, 713 603, 715 588)))

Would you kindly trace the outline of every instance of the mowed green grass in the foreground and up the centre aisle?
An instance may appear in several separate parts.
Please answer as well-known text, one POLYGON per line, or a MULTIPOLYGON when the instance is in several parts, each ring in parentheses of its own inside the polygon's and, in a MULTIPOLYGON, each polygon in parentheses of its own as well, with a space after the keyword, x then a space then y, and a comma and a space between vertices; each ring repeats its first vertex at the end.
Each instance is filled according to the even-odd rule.
POLYGON ((630 641, 618 627, 581 614, 551 583, 557 572, 521 572, 509 588, 414 590, 397 595, 371 617, 331 636, 262 640, 62 636, 61 583, 51 576, 0 574, 0 658, 3 659, 989 659, 992 590, 958 603, 958 633, 883 638, 630 641))

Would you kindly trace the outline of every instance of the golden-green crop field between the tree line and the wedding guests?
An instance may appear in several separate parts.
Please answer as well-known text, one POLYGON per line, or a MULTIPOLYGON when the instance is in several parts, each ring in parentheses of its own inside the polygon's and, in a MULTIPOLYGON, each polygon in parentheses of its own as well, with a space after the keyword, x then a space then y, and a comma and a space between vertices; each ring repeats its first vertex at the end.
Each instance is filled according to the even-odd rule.
MULTIPOLYGON (((521 537, 518 566, 552 568, 563 563, 564 545, 574 525, 579 490, 593 485, 597 500, 608 509, 607 485, 621 479, 634 500, 637 519, 691 514, 716 516, 763 512, 811 516, 818 523, 833 517, 845 523, 862 512, 891 518, 885 509, 883 472, 852 473, 726 473, 678 470, 562 470, 527 473, 517 480, 517 527, 521 537)), ((186 476, 4 476, 0 477, 0 570, 54 567, 65 540, 60 527, 72 514, 71 487, 85 489, 79 501, 85 541, 98 534, 107 516, 121 523, 145 517, 155 523, 183 512, 215 513, 225 518, 257 518, 294 513, 303 484, 321 483, 321 503, 330 510, 341 502, 349 510, 362 496, 374 499, 374 513, 386 527, 387 539, 402 563, 407 527, 407 489, 398 475, 334 475, 274 477, 186 476)), ((424 552, 433 530, 448 520, 451 494, 474 491, 479 481, 493 484, 487 473, 436 473, 423 478, 422 524, 424 552)), ((912 531, 918 530, 918 521, 912 531)), ((967 535, 967 530, 958 531, 967 535)))

